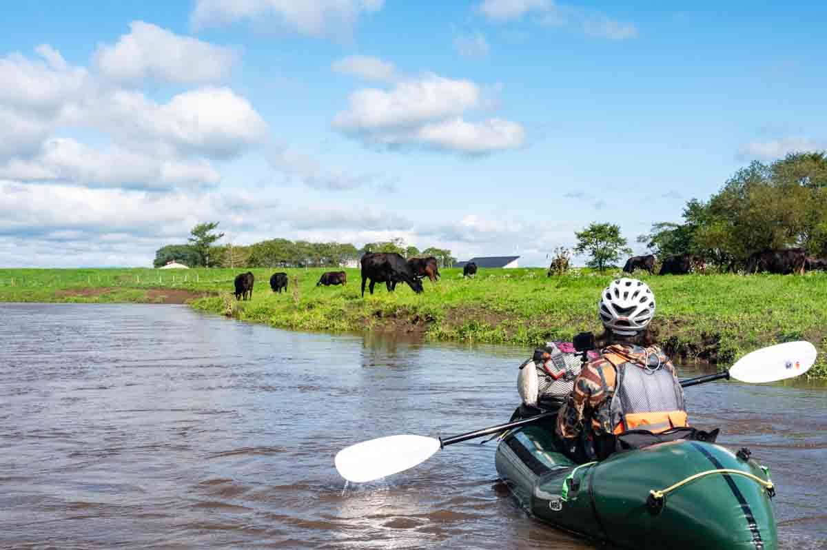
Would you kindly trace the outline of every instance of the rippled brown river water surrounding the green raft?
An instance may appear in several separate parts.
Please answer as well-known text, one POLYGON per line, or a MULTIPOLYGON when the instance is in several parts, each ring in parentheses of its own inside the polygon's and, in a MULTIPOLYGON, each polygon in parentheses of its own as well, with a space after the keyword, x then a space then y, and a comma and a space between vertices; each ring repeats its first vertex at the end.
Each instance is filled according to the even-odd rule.
MULTIPOLYGON (((507 421, 525 348, 175 305, 0 304, 0 318, 0 548, 593 548, 520 509, 492 443, 347 488, 333 467, 365 439, 507 421)), ((825 385, 715 382, 686 400, 770 466, 782 548, 827 548, 825 385)))

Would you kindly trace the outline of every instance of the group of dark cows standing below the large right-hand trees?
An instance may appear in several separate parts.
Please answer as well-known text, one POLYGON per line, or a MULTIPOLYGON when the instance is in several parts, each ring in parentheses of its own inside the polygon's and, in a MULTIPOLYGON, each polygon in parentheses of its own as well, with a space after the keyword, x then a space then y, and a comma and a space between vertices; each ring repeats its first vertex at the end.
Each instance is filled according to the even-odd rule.
MULTIPOLYGON (((632 256, 626 261, 623 270, 632 273, 633 270, 647 270, 654 275, 655 256, 632 256)), ((785 248, 783 250, 758 251, 748 257, 746 262, 732 261, 728 270, 743 269, 746 275, 755 273, 773 273, 789 275, 797 273, 804 275, 805 271, 827 270, 827 260, 807 256, 803 248, 785 248)), ((667 257, 657 275, 687 275, 690 273, 705 273, 706 261, 703 256, 681 254, 667 257)))

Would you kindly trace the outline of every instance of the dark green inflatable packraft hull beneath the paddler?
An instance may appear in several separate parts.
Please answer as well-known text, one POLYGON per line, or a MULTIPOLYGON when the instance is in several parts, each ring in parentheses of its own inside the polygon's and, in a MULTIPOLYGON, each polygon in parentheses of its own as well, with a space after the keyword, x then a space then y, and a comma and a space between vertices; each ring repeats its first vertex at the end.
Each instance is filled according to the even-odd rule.
POLYGON ((767 480, 757 462, 705 442, 666 442, 577 466, 557 452, 547 428, 527 426, 500 442, 496 467, 538 519, 618 548, 777 550, 767 480), (668 492, 653 506, 650 491, 668 492), (571 481, 566 478, 571 477, 571 481), (564 490, 564 486, 568 490, 564 490))

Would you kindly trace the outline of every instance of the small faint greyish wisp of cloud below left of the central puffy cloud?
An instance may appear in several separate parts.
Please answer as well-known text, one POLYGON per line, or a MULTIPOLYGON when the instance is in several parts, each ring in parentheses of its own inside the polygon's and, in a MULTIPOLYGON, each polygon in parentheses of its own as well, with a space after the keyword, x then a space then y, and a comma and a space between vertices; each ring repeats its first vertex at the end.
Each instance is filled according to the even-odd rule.
POLYGON ((348 170, 327 168, 291 146, 273 146, 267 155, 267 161, 287 179, 298 180, 313 189, 345 191, 377 184, 384 185, 383 189, 389 190, 387 182, 383 182, 380 175, 352 174, 348 170))

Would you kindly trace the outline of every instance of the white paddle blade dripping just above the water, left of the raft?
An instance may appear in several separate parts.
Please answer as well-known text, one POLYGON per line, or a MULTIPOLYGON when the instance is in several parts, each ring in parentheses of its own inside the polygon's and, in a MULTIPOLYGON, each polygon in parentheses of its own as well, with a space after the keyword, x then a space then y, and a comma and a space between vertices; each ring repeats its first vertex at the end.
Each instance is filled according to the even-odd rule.
POLYGON ((345 447, 336 453, 336 469, 347 481, 362 483, 404 471, 439 450, 438 439, 391 435, 345 447))

